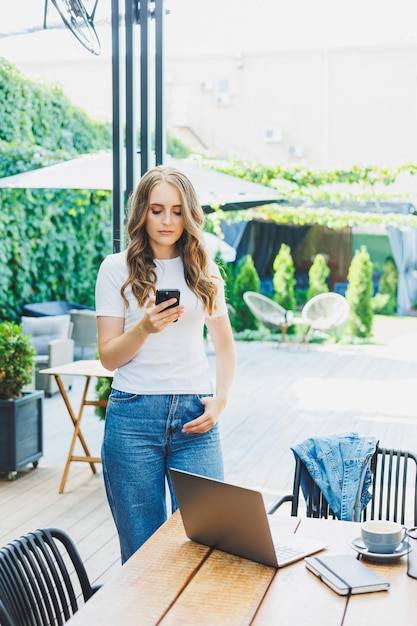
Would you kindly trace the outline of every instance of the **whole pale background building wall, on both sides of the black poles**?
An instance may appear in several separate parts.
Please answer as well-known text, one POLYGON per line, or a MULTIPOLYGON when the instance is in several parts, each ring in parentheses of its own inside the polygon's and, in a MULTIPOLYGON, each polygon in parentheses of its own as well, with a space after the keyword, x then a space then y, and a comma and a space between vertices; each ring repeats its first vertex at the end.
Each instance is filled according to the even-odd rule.
MULTIPOLYGON (((91 115, 110 120, 108 32, 99 57, 66 32, 31 37, 31 45, 24 37, 12 38, 13 49, 11 41, 0 39, 0 55, 19 59, 17 66, 28 76, 58 82, 91 115)), ((252 45, 249 36, 239 47, 226 43, 182 53, 167 46, 168 127, 190 128, 216 156, 267 164, 392 167, 416 161, 415 38, 385 46, 294 43, 290 48, 278 35, 265 49, 252 45)))

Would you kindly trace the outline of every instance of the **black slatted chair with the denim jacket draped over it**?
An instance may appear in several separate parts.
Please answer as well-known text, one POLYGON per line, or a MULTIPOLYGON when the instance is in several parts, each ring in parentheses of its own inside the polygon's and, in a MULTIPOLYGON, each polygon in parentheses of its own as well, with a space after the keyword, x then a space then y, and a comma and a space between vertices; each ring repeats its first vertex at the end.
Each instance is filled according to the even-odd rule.
MULTIPOLYGON (((405 450, 377 448, 371 459, 372 498, 362 511, 362 519, 385 519, 417 526, 417 455, 405 450)), ((321 490, 312 480, 304 463, 297 457, 293 492, 268 507, 273 514, 285 502, 291 503, 291 515, 297 516, 301 481, 306 480, 306 516, 336 519, 321 490)))

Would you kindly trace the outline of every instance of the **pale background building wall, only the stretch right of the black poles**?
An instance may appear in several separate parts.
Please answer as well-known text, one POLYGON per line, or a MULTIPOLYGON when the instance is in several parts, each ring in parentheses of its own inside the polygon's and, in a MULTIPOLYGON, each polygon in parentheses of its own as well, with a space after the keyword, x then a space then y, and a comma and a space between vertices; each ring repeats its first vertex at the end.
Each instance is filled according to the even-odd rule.
POLYGON ((171 57, 167 124, 191 127, 227 158, 329 168, 415 162, 416 67, 417 46, 171 57))

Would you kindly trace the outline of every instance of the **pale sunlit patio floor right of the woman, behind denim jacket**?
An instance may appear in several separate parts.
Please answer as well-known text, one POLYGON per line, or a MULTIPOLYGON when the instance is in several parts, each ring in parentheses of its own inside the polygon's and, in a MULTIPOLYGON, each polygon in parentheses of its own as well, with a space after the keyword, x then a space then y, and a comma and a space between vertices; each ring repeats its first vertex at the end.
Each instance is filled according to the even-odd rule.
POLYGON ((417 335, 389 347, 239 345, 239 372, 222 418, 229 480, 288 491, 290 446, 306 437, 374 435, 417 450, 417 335))

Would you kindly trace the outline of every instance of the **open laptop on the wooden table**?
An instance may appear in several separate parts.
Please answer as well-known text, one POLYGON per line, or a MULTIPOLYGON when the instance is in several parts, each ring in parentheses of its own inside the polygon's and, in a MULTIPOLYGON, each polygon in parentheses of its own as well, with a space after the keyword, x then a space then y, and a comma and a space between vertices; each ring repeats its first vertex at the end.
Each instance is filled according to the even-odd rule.
POLYGON ((289 565, 327 545, 283 534, 258 491, 173 468, 170 475, 186 535, 193 541, 271 567, 289 565))

